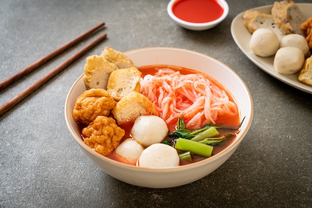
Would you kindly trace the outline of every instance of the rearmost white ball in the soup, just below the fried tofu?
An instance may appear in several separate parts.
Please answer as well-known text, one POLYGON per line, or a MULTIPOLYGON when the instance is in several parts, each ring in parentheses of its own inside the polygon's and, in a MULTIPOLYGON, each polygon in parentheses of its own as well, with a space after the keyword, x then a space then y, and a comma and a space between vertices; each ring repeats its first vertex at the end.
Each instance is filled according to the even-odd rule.
POLYGON ((141 115, 134 122, 131 134, 140 144, 148 147, 161 142, 168 134, 168 127, 156 115, 141 115))

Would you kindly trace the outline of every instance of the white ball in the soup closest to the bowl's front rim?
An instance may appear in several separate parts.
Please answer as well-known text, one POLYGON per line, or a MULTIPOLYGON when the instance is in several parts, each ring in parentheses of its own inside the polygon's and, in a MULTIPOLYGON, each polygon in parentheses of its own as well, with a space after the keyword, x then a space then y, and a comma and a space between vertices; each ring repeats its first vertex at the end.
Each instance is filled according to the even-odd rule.
POLYGON ((138 160, 138 166, 148 168, 168 168, 178 166, 179 162, 179 155, 173 147, 157 143, 149 146, 142 152, 138 160))

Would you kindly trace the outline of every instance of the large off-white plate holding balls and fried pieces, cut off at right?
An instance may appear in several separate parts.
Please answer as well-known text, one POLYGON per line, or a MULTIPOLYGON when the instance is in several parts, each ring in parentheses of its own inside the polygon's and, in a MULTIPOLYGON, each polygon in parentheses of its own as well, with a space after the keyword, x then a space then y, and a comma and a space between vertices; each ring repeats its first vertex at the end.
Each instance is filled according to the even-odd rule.
MULTIPOLYGON (((303 15, 308 19, 312 15, 312 3, 297 3, 303 15)), ((260 6, 252 8, 249 10, 257 10, 263 13, 271 13, 271 8, 273 5, 260 6)), ((244 11, 245 12, 245 11, 244 11)), ((295 87, 299 90, 312 94, 312 86, 306 85, 298 80, 299 72, 293 75, 282 75, 276 72, 273 66, 274 56, 268 58, 262 58, 256 56, 252 50, 249 48, 249 41, 251 38, 251 33, 243 25, 242 16, 244 12, 238 14, 232 21, 231 33, 234 41, 238 47, 244 52, 244 54, 256 64, 263 71, 267 72, 269 75, 281 80, 282 82, 295 87)))

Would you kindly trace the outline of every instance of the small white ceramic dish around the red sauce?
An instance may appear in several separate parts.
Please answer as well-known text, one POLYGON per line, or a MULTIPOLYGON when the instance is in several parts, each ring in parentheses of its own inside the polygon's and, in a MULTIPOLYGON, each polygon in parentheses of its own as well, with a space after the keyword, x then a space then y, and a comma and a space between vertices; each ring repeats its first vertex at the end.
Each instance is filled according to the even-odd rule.
MULTIPOLYGON (((178 25, 180 25, 180 26, 182 26, 182 27, 184 27, 186 29, 190 29, 190 30, 206 30, 206 29, 210 29, 212 27, 215 27, 221 21, 223 21, 225 19, 225 17, 229 13, 229 5, 227 4, 226 1, 225 0, 216 0, 223 7, 223 14, 218 19, 210 21, 210 22, 204 22, 204 23, 188 22, 188 21, 184 21, 184 20, 182 20, 182 19, 180 19, 180 18, 178 18, 177 16, 174 15, 174 13, 172 11, 172 6, 174 5, 175 1, 177 1, 177 0, 170 0, 169 1, 168 5, 167 5, 168 15, 178 25)), ((207 10, 209 10, 209 8, 207 8, 207 10)))

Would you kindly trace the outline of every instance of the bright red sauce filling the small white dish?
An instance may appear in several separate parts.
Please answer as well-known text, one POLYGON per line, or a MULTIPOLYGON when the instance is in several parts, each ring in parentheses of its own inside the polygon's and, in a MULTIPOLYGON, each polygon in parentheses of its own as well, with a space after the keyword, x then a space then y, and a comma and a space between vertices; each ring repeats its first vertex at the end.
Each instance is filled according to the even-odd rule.
POLYGON ((223 10, 217 0, 177 0, 172 6, 176 17, 193 23, 214 21, 222 16, 223 10))

